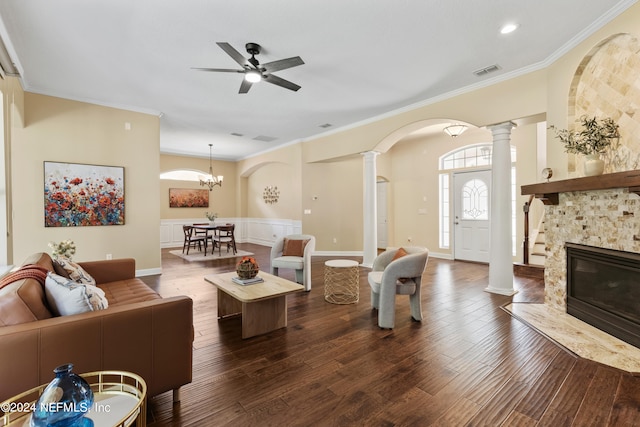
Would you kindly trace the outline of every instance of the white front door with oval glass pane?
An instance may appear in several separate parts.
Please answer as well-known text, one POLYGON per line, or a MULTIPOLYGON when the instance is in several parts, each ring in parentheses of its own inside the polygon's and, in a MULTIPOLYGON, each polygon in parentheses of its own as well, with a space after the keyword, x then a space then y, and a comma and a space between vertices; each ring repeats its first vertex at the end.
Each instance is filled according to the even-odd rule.
POLYGON ((489 262, 491 170, 453 175, 455 259, 489 262))

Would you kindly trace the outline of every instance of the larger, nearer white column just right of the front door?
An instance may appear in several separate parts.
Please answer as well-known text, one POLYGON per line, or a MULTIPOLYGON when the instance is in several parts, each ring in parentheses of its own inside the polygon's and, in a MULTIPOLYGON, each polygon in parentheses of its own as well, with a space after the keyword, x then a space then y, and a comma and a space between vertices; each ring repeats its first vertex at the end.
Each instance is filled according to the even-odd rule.
POLYGON ((487 292, 513 295, 511 240, 511 129, 512 122, 489 126, 491 150, 491 238, 487 292))

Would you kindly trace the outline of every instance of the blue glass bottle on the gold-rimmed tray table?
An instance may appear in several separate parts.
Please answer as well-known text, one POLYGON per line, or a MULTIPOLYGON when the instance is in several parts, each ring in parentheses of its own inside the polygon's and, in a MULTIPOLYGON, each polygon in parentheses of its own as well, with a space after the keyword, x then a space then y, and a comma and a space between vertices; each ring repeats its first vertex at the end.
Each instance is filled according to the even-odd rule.
POLYGON ((31 414, 31 427, 90 427, 84 414, 93 405, 93 391, 67 363, 53 370, 56 377, 47 385, 31 414))

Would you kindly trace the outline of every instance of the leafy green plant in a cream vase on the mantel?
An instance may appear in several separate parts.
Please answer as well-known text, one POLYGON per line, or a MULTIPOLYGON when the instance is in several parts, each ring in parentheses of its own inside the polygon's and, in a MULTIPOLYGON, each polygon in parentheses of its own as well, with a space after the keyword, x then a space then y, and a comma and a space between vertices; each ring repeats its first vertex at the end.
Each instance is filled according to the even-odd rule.
POLYGON ((600 154, 604 153, 614 139, 620 138, 618 124, 610 117, 598 119, 595 116, 584 115, 577 120, 582 126, 580 130, 557 129, 551 125, 567 153, 583 154, 584 174, 586 176, 602 175, 604 160, 600 154))

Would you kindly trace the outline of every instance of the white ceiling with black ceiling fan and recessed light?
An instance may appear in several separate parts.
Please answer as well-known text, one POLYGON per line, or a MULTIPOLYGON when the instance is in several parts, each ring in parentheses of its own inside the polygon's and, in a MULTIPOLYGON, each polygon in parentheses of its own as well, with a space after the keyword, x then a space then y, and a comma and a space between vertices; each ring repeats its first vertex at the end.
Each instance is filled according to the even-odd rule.
POLYGON ((0 36, 25 90, 158 114, 163 153, 237 160, 547 66, 634 3, 2 0, 0 36), (275 74, 302 89, 192 70, 239 68, 216 42, 300 56, 275 74))

